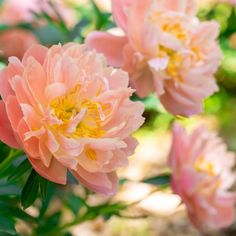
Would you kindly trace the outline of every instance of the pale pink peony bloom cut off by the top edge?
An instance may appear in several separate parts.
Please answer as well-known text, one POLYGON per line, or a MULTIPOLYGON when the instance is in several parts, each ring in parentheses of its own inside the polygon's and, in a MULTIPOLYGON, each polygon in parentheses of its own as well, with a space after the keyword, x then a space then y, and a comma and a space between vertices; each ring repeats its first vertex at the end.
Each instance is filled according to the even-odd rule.
POLYGON ((219 25, 200 23, 194 0, 113 0, 113 17, 124 36, 92 32, 86 43, 125 69, 140 97, 156 92, 174 115, 202 112, 217 91, 219 25))

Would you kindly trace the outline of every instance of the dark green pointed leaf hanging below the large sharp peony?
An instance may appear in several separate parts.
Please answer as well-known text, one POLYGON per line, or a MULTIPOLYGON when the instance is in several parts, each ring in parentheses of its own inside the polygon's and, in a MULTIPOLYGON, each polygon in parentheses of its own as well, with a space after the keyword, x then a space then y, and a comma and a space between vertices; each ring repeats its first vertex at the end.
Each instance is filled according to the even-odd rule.
POLYGON ((38 196, 38 192, 39 176, 34 170, 32 170, 21 193, 21 205, 24 209, 28 208, 34 203, 38 196))

